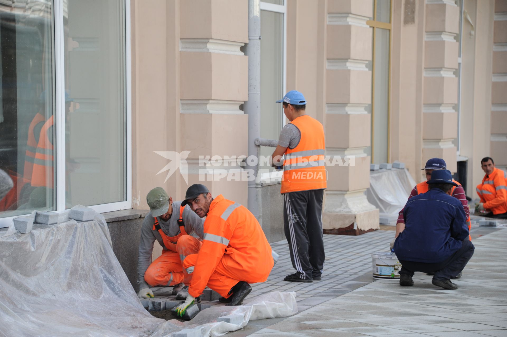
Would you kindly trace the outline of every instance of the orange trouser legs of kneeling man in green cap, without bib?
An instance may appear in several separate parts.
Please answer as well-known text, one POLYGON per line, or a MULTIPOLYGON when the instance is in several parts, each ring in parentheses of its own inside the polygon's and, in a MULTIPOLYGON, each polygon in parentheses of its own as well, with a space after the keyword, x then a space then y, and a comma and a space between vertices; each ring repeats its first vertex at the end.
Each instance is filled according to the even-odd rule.
POLYGON ((202 242, 190 235, 182 235, 176 242, 176 250, 164 249, 162 255, 152 262, 144 273, 144 281, 153 286, 171 286, 178 283, 189 285, 192 274, 183 270, 183 260, 196 255, 202 242))

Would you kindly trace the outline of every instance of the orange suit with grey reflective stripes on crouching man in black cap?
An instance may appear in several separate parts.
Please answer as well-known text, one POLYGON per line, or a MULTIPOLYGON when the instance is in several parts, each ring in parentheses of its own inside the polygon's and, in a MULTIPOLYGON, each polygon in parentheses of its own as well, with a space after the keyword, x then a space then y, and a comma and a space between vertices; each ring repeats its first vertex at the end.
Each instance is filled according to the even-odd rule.
POLYGON ((204 238, 189 286, 192 296, 202 293, 219 263, 228 270, 225 276, 248 283, 266 281, 274 264, 271 246, 255 216, 223 195, 213 199, 204 221, 204 238))

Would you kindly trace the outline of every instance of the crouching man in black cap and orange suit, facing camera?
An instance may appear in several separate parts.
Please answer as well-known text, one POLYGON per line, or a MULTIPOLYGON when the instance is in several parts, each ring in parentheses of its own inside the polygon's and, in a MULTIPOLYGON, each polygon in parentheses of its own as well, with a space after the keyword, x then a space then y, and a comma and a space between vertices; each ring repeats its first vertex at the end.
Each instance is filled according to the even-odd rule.
POLYGON ((213 199, 204 185, 189 187, 183 204, 188 203, 204 221, 204 239, 199 254, 183 262, 192 273, 187 301, 176 311, 185 313, 206 285, 218 292, 228 306, 241 305, 250 293, 249 283, 264 282, 273 268, 271 246, 250 211, 219 195, 213 199))

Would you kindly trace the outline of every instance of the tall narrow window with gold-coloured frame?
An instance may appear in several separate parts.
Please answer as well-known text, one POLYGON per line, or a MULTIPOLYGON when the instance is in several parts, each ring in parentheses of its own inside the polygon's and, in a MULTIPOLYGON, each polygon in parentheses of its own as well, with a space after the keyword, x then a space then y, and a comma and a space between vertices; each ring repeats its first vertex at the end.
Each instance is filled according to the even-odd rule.
POLYGON ((391 0, 373 0, 372 163, 389 161, 391 0))

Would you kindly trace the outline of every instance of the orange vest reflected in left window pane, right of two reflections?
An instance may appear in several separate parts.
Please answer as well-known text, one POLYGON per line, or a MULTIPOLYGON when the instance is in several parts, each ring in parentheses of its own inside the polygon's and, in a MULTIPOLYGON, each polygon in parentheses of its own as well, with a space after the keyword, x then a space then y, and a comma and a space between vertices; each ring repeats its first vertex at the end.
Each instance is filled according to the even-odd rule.
POLYGON ((49 141, 48 132, 54 124, 54 116, 44 123, 41 130, 39 144, 33 159, 31 176, 32 186, 46 186, 53 188, 53 144, 49 141))

